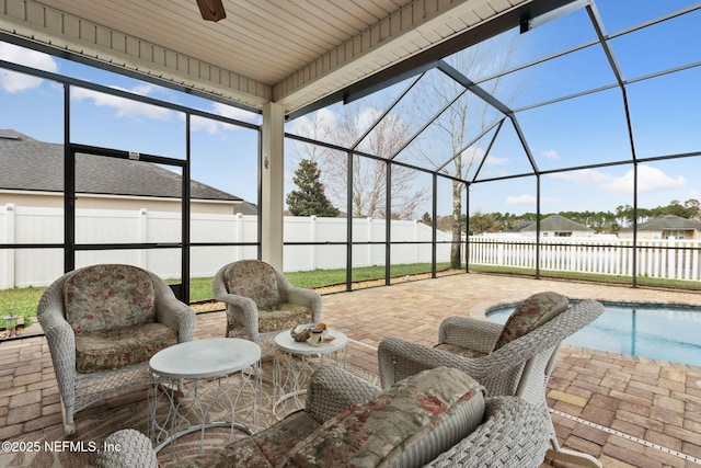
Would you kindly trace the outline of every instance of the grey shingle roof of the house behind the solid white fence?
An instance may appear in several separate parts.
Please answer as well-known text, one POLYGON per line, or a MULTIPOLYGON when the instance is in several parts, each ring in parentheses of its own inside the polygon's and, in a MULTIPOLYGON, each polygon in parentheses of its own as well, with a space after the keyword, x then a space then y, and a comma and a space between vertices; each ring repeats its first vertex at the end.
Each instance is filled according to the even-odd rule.
MULTIPOLYGON (((0 189, 62 192, 64 145, 0 129, 0 189)), ((76 155, 76 192, 180 198, 180 174, 157 164, 95 155, 76 155)), ((242 198, 191 180, 191 197, 241 202, 242 198)))

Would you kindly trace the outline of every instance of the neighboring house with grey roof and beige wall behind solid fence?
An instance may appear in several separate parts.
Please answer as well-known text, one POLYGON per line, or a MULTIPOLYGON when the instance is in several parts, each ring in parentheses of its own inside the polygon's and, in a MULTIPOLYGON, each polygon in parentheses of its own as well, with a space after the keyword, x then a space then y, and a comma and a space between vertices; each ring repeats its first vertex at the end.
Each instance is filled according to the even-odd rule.
MULTIPOLYGON (((191 210, 255 214, 255 205, 191 181, 191 210)), ((0 206, 64 206, 64 146, 0 129, 0 206)), ((158 164, 76 155, 76 207, 180 212, 182 178, 158 164)))

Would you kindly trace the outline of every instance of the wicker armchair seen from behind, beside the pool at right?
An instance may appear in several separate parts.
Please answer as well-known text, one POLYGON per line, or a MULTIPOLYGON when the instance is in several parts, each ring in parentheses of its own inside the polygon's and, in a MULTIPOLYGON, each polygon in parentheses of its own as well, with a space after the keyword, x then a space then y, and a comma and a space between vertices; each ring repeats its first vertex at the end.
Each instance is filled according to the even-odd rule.
MULTIPOLYGON (((547 384, 558 358, 560 344, 599 317, 604 312, 604 306, 595 300, 583 300, 567 307, 566 298, 554 293, 531 296, 525 301, 526 306, 532 307, 533 300, 543 295, 548 295, 549 299, 549 310, 545 313, 548 320, 540 320, 538 327, 512 336, 510 341, 504 336, 509 322, 501 326, 467 317, 444 320, 436 347, 398 338, 382 340, 378 349, 382 386, 391 386, 427 368, 450 366, 480 381, 487 396, 517 396, 548 411, 547 384), (459 349, 463 349, 460 354, 459 349)), ((524 305, 519 309, 522 310, 524 305)), ((524 331, 526 330, 521 330, 524 331)), ((590 455, 561 448, 552 422, 548 432, 552 444, 552 449, 548 452, 551 459, 590 467, 601 466, 590 455)))

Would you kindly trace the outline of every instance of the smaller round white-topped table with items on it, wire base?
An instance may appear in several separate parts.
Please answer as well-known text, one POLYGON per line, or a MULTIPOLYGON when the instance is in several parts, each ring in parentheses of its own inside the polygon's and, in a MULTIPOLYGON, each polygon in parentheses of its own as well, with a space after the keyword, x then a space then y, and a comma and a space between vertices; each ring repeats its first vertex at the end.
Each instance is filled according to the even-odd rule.
POLYGON ((298 398, 307 393, 307 377, 314 370, 314 358, 319 364, 332 363, 345 367, 346 345, 348 338, 337 330, 326 330, 326 336, 334 340, 319 346, 306 341, 295 341, 289 330, 275 336, 276 354, 273 368, 274 402, 273 414, 278 419, 277 408, 290 398, 295 398, 295 408, 300 409, 302 402, 298 398))

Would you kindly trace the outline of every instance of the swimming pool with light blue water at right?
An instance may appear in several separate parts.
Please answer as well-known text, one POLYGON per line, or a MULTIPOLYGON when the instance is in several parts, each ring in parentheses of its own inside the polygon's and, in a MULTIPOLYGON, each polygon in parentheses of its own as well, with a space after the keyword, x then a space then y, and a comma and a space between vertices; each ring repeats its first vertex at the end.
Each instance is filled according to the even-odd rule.
MULTIPOLYGON (((701 307, 604 303, 604 313, 565 343, 701 366, 701 307)), ((486 316, 504 323, 515 306, 486 316)))

